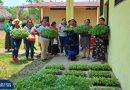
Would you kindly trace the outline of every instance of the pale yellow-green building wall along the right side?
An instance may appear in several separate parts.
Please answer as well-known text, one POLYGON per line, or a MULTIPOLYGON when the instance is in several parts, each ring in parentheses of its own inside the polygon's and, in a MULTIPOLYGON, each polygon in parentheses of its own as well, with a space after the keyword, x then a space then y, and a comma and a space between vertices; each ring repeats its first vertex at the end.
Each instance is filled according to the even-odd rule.
POLYGON ((110 26, 108 63, 121 83, 130 90, 130 0, 101 0, 101 15, 110 26))

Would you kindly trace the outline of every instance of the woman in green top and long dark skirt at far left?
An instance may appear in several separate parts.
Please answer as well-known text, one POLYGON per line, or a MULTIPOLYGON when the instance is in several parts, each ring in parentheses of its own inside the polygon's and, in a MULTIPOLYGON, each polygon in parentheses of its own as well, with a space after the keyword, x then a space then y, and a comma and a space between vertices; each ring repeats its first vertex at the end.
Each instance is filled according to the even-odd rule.
POLYGON ((10 36, 10 30, 12 26, 13 19, 9 19, 8 23, 4 25, 4 31, 6 32, 5 36, 5 49, 8 50, 8 52, 11 49, 11 36, 10 36))

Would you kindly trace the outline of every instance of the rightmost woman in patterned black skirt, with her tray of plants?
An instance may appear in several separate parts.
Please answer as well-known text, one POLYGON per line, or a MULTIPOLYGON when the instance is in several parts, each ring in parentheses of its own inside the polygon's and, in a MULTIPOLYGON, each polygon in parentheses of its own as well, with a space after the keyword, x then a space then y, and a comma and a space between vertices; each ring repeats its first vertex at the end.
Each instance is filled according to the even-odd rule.
POLYGON ((99 24, 95 26, 93 31, 96 31, 93 32, 93 35, 95 35, 95 43, 92 55, 94 59, 93 61, 101 60, 102 62, 104 62, 106 50, 105 40, 108 38, 109 34, 109 28, 105 25, 104 18, 99 18, 99 24))

